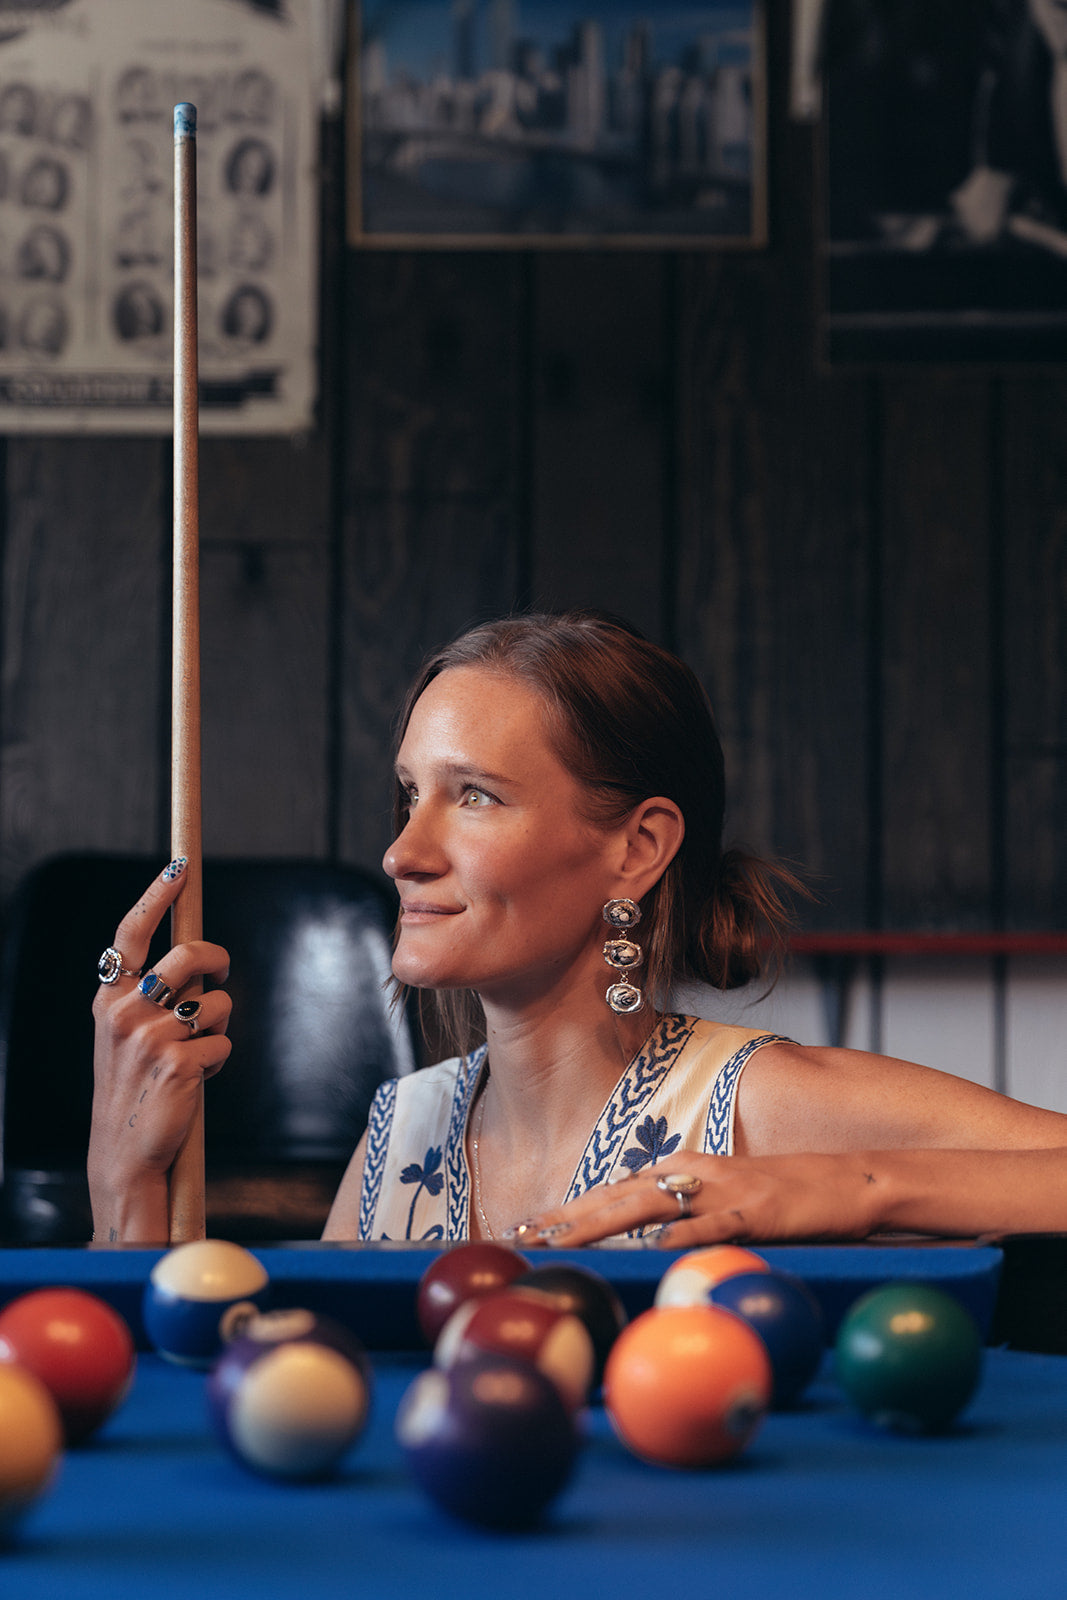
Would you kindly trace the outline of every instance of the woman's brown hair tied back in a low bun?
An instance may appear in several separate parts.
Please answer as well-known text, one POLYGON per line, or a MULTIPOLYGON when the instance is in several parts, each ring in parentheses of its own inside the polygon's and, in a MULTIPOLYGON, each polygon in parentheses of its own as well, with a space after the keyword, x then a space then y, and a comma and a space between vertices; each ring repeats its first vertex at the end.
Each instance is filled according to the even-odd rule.
MULTIPOLYGON (((723 851, 723 750, 707 694, 683 661, 605 611, 485 622, 424 662, 400 712, 397 746, 427 685, 450 667, 472 666, 542 696, 552 747, 585 787, 587 821, 614 827, 653 795, 681 810, 683 843, 641 902, 649 997, 665 997, 678 979, 736 989, 781 965, 792 928, 784 894, 805 890, 776 862, 723 851)), ((403 798, 397 784, 397 832, 403 798)), ((453 1048, 470 1050, 485 1037, 472 992, 432 990, 429 1002, 453 1048)), ((419 1006, 429 1021, 424 994, 419 1006)))

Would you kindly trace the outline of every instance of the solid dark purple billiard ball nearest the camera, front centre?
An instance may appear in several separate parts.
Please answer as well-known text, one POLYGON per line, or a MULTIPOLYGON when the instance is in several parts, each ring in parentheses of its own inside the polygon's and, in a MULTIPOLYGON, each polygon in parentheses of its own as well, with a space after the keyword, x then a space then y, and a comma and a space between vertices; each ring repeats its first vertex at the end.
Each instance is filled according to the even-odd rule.
POLYGON ((488 1528, 539 1522, 579 1445, 555 1384, 510 1355, 421 1373, 400 1402, 397 1438, 442 1510, 488 1528))

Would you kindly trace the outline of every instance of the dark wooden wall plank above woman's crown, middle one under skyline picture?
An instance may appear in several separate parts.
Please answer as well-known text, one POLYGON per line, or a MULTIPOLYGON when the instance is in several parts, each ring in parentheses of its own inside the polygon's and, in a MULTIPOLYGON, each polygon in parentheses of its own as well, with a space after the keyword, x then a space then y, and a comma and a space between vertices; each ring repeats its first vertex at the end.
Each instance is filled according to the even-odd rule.
POLYGON ((545 253, 533 270, 533 600, 601 606, 662 638, 667 264, 545 253))

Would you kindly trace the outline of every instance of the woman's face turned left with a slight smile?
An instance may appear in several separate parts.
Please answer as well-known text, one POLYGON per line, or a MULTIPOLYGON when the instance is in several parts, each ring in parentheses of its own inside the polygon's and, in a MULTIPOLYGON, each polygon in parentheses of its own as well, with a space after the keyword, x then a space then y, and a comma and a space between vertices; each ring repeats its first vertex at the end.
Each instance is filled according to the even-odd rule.
POLYGON ((592 976, 603 990, 625 832, 582 819, 545 722, 533 690, 483 667, 451 667, 416 701, 397 760, 408 822, 384 859, 402 982, 520 1005, 592 976))

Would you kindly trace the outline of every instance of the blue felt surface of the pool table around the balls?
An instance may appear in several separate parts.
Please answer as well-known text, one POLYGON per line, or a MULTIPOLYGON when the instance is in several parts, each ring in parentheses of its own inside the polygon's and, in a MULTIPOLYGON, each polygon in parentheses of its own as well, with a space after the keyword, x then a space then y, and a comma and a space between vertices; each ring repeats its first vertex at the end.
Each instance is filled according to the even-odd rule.
MULTIPOLYGON (((245 1472, 214 1442, 203 1376, 146 1352, 125 1406, 67 1453, 54 1488, 0 1552, 13 1600, 569 1600, 768 1594, 789 1600, 1062 1600, 1067 1587, 1067 1357, 993 1347, 947 1435, 881 1435, 845 1406, 830 1358, 793 1413, 773 1414, 728 1467, 649 1467, 598 1406, 573 1483, 534 1533, 450 1522, 410 1482, 392 1418, 426 1360, 414 1286, 424 1248, 256 1251, 280 1302, 344 1315, 374 1360, 371 1422, 326 1485, 245 1472)), ((0 1304, 78 1283, 126 1312, 158 1251, 0 1251, 0 1304)), ((1003 1254, 977 1246, 789 1246, 830 1326, 869 1283, 918 1277, 997 1334, 1003 1254)), ((557 1251, 605 1272, 630 1312, 669 1254, 557 1251)), ((541 1258, 544 1259, 544 1258, 541 1258)))

